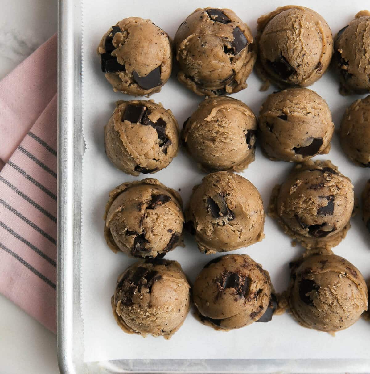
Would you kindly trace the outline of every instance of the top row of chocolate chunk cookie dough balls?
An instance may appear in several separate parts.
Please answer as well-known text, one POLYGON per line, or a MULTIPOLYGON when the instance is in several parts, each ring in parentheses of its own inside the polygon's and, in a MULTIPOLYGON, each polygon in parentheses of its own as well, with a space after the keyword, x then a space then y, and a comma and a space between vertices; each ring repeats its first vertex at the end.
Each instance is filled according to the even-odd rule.
MULTIPOLYGON (((370 90, 370 13, 362 10, 333 41, 326 21, 301 6, 279 7, 257 20, 257 36, 230 9, 196 9, 173 42, 178 80, 198 95, 224 95, 246 87, 256 71, 267 84, 309 86, 334 62, 342 93, 370 90)), ((159 92, 172 70, 172 43, 149 19, 125 18, 104 34, 97 53, 115 91, 159 92)))

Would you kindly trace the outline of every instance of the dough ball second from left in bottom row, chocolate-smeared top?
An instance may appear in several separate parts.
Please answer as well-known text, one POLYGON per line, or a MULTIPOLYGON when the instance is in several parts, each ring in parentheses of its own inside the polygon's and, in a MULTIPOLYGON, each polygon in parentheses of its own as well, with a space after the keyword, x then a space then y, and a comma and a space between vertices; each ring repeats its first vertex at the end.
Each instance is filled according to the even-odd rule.
POLYGON ((270 276, 248 255, 226 255, 199 273, 193 298, 199 319, 216 329, 271 321, 277 307, 270 276), (272 292, 272 293, 271 293, 272 292))

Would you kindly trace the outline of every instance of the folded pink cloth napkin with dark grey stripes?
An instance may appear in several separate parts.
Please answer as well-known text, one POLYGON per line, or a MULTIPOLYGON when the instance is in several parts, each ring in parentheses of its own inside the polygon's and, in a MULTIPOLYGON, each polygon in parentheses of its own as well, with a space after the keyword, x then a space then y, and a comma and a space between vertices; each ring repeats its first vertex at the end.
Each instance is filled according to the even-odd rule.
POLYGON ((56 331, 57 37, 0 81, 0 292, 56 331))

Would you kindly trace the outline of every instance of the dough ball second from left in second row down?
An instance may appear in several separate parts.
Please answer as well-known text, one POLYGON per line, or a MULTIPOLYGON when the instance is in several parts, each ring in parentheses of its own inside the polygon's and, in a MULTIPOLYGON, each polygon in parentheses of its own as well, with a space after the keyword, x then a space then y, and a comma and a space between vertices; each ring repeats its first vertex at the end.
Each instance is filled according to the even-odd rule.
POLYGON ((182 132, 189 153, 207 172, 242 171, 254 161, 257 120, 243 102, 219 96, 203 101, 182 132))

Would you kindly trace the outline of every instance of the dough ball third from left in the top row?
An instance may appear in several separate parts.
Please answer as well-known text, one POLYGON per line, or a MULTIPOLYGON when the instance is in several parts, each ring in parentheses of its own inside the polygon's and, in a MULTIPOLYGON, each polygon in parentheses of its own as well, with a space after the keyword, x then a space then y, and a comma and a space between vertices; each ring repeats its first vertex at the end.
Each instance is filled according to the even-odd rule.
POLYGON ((333 36, 312 9, 284 6, 257 21, 259 75, 279 87, 306 87, 329 67, 333 36))

